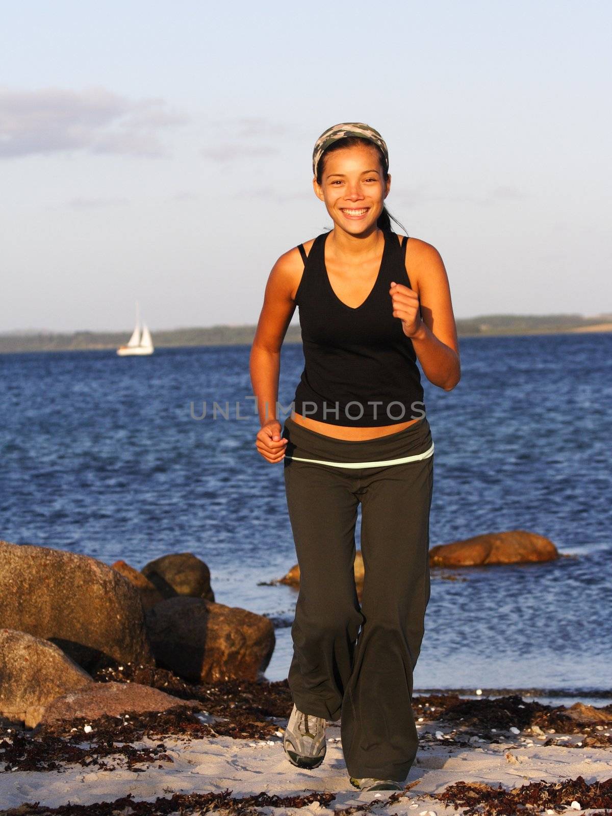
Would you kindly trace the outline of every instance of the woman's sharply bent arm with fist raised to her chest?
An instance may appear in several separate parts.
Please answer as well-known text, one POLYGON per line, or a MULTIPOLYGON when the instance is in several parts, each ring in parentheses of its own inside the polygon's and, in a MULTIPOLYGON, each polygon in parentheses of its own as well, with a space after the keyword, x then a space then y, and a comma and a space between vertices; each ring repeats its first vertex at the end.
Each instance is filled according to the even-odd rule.
POLYGON ((410 242, 406 271, 410 268, 410 283, 416 291, 392 284, 393 317, 401 319, 429 382, 451 391, 461 379, 461 361, 446 268, 434 246, 418 238, 410 242))

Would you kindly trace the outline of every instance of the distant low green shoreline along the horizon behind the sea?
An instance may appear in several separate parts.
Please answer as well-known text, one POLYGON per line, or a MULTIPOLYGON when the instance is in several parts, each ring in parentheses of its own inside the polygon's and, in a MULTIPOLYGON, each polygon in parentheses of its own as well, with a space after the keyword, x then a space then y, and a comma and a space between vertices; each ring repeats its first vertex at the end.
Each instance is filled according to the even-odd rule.
MULTIPOLYGON (((460 337, 559 334, 566 331, 610 331, 612 313, 597 317, 580 314, 490 314, 457 320, 460 337)), ((153 344, 157 348, 171 346, 219 346, 250 345, 255 326, 208 326, 194 329, 152 329, 153 344)), ((84 351, 94 348, 118 348, 127 342, 131 330, 124 332, 73 331, 59 332, 10 332, 0 334, 0 353, 84 351)), ((287 329, 285 343, 300 343, 299 326, 287 329)))

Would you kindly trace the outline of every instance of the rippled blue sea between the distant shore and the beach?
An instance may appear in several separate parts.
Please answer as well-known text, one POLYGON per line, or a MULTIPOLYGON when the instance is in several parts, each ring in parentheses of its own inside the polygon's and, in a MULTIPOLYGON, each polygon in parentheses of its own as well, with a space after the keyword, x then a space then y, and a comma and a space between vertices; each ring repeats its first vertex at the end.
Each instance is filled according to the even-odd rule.
MULTIPOLYGON (((0 539, 136 568, 193 552, 217 601, 273 619, 266 676, 281 680, 297 592, 265 583, 296 558, 282 463, 255 449, 249 353, 0 354, 0 539)), ((612 697, 612 335, 463 338, 460 353, 453 391, 423 376, 431 546, 521 529, 566 557, 455 581, 432 570, 415 692, 601 704, 612 697)), ((299 344, 283 346, 283 405, 303 363, 299 344)))

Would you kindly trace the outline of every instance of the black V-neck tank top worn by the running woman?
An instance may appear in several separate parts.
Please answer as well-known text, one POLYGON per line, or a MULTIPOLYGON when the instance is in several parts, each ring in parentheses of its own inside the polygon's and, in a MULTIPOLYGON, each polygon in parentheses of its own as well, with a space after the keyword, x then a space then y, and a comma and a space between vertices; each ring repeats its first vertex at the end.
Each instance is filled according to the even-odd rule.
POLYGON ((391 282, 410 286, 406 243, 384 230, 379 276, 366 299, 353 308, 331 288, 325 242, 318 235, 304 259, 295 293, 302 329, 304 370, 294 410, 331 425, 373 428, 420 419, 424 392, 412 340, 392 315, 391 282))

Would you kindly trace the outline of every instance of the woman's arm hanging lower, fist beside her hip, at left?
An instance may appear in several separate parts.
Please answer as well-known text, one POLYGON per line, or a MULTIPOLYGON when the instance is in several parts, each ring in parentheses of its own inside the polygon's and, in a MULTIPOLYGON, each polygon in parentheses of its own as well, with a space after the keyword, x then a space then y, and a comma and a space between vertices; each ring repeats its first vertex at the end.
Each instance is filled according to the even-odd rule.
POLYGON ((281 346, 295 312, 292 293, 295 275, 303 267, 297 249, 286 252, 274 264, 264 292, 255 339, 251 346, 249 367, 251 385, 257 400, 259 424, 255 446, 268 462, 278 462, 285 453, 286 439, 281 439, 277 420, 278 378, 281 370, 281 346))

